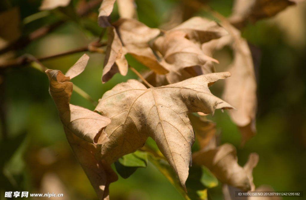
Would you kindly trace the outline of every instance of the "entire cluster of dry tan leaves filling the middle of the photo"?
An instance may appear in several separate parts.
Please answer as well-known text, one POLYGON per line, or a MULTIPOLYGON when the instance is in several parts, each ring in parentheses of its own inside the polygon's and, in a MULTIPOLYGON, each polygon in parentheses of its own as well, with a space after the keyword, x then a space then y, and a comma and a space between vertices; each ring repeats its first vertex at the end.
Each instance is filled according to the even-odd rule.
MULTIPOLYGON (((40 9, 68 3, 45 0, 40 9)), ((118 178, 110 164, 142 148, 148 137, 154 139, 186 192, 192 160, 206 166, 224 184, 227 199, 231 199, 231 187, 254 191, 252 170, 258 155, 250 154, 248 162, 239 166, 233 145, 216 146, 215 123, 189 113, 214 115, 216 109, 229 109, 232 121, 241 130, 242 144, 255 134, 257 100, 252 54, 236 27, 273 16, 293 3, 237 0, 233 15, 229 21, 221 19, 221 25, 193 17, 167 31, 136 20, 132 0, 117 1, 121 18, 110 23, 114 3, 104 0, 99 8, 98 23, 107 29, 108 37, 102 82, 115 73, 125 76, 129 69, 125 55, 130 54, 151 70, 144 73, 143 83, 148 87, 138 80, 120 83, 99 99, 95 111, 90 111, 69 104, 73 89, 70 79, 84 70, 87 55, 66 75, 58 70, 46 71, 67 139, 99 199, 108 198, 108 186, 118 178), (226 45, 233 49, 233 62, 228 72, 215 73, 214 62, 218 61, 212 58, 213 52, 226 45), (219 79, 225 79, 224 101, 209 90, 219 79), (200 151, 192 154, 195 138, 200 151)))

